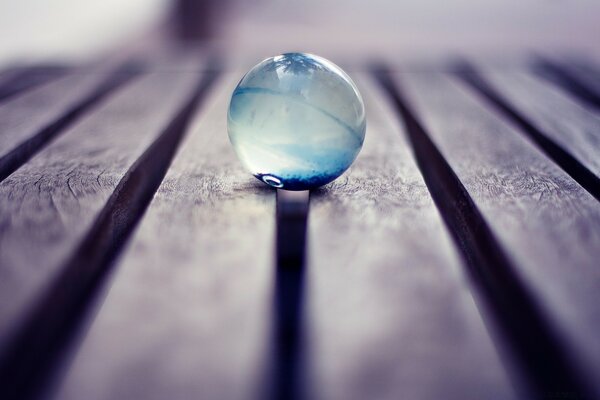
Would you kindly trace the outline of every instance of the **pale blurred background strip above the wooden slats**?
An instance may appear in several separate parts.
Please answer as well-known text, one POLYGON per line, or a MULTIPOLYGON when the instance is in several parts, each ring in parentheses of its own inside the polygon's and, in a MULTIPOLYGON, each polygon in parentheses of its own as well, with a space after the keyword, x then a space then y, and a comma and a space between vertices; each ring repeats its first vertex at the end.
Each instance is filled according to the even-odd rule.
POLYGON ((494 58, 531 51, 595 58, 597 0, 1 0, 0 66, 93 60, 164 42, 229 59, 310 51, 494 58))

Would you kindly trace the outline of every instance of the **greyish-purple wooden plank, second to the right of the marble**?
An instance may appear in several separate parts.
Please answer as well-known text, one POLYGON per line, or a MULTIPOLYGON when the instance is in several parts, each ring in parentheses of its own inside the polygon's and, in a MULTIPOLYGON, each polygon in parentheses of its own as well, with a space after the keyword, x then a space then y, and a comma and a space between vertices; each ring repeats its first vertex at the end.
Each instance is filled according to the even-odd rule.
POLYGON ((401 82, 525 284, 597 384, 600 204, 456 80, 413 74, 401 82))

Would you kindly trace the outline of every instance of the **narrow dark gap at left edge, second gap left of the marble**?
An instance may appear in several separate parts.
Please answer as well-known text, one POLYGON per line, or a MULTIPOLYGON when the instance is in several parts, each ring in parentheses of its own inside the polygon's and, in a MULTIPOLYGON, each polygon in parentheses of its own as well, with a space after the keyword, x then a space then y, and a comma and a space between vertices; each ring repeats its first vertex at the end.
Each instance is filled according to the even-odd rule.
MULTIPOLYGON (((31 157, 44 148, 53 139, 58 137, 67 128, 72 126, 79 118, 97 106, 102 100, 118 88, 138 76, 140 71, 133 65, 124 65, 109 74, 91 93, 82 98, 64 115, 50 122, 34 136, 25 140, 6 155, 0 158, 0 182, 25 164, 31 157)), ((35 112, 35 110, 32 110, 35 112)))

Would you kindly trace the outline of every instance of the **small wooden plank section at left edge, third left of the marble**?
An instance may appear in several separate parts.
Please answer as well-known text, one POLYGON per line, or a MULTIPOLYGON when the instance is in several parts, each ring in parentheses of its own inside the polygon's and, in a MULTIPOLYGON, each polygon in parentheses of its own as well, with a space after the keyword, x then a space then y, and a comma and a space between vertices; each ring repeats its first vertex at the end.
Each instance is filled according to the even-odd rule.
POLYGON ((75 72, 0 106, 0 158, 72 109, 107 74, 75 72))

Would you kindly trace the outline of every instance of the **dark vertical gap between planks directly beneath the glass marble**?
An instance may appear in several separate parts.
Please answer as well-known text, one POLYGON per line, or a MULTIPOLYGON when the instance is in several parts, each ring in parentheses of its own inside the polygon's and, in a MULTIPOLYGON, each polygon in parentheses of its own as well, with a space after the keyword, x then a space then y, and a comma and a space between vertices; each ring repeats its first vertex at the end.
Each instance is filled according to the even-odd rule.
POLYGON ((300 395, 302 308, 309 192, 277 190, 273 400, 300 395))

